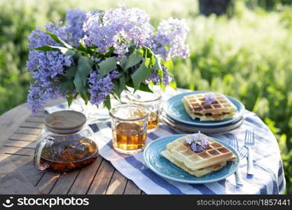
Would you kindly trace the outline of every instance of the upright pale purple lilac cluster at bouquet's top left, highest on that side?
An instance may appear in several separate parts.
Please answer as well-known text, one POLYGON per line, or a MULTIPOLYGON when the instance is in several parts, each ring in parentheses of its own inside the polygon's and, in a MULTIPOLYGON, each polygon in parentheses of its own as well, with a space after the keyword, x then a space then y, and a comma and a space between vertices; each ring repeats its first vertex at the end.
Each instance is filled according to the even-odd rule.
POLYGON ((66 21, 67 21, 67 30, 71 34, 71 45, 78 45, 80 40, 83 38, 84 31, 83 31, 83 22, 86 18, 86 12, 74 8, 68 10, 66 13, 66 21))

